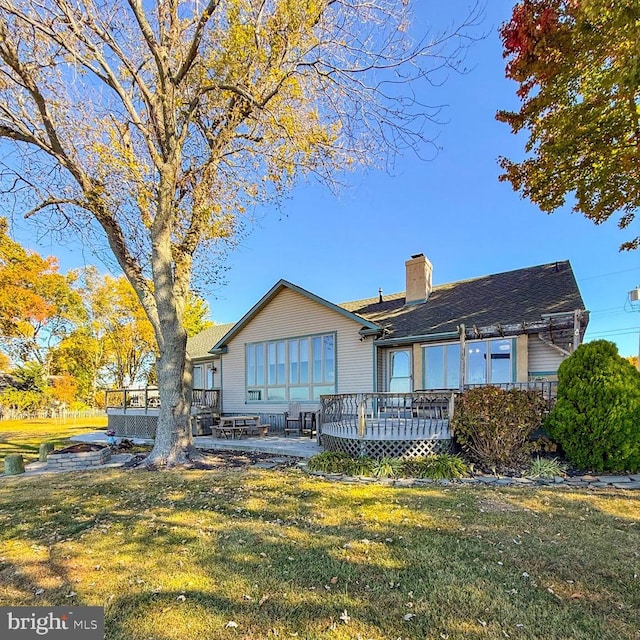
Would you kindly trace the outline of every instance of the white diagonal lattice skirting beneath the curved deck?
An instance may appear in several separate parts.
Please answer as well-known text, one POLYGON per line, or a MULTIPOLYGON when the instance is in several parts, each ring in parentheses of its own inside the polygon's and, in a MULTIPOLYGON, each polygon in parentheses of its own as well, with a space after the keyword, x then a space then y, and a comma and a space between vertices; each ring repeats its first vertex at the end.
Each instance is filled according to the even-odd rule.
POLYGON ((340 451, 353 458, 418 458, 438 453, 451 452, 451 440, 354 440, 338 436, 321 436, 322 446, 327 451, 340 451))

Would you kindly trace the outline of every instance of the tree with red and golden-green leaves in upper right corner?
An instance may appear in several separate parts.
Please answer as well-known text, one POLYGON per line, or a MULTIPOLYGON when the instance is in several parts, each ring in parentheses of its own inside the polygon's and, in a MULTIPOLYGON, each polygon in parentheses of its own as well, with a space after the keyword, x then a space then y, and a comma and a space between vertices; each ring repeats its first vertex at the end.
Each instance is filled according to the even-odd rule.
MULTIPOLYGON (((571 196, 595 224, 620 214, 629 228, 640 206, 640 5, 523 0, 500 34, 522 105, 497 118, 529 134, 529 155, 500 158, 500 179, 547 213, 571 196)), ((621 249, 639 245, 636 235, 621 249)))

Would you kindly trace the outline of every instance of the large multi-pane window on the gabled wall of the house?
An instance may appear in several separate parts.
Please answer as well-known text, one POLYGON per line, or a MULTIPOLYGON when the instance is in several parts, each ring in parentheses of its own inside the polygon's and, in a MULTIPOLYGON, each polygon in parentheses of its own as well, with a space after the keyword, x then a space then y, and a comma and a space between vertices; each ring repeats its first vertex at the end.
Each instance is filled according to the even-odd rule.
POLYGON ((318 400, 335 393, 335 343, 335 334, 327 334, 246 345, 247 400, 318 400))

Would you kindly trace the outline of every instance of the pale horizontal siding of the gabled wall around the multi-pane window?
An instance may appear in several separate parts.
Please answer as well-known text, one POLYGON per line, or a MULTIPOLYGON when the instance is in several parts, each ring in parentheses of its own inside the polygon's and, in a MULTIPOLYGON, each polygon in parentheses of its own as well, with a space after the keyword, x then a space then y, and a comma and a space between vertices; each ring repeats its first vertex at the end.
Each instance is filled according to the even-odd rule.
MULTIPOLYGON (((228 344, 222 356, 224 413, 278 413, 287 403, 247 403, 245 345, 251 342, 336 333, 337 392, 360 393, 373 388, 372 338, 361 341, 361 325, 288 288, 276 296, 228 344)), ((313 405, 312 401, 303 405, 313 405)))

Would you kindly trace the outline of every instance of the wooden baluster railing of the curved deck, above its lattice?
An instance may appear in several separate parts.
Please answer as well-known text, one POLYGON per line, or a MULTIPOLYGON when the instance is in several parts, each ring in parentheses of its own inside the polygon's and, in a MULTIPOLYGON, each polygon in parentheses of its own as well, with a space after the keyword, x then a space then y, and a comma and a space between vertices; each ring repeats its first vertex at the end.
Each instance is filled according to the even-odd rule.
POLYGON ((320 432, 341 437, 449 437, 455 392, 340 393, 321 396, 320 432))

